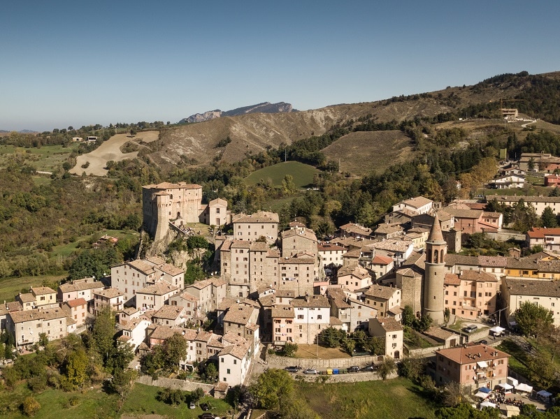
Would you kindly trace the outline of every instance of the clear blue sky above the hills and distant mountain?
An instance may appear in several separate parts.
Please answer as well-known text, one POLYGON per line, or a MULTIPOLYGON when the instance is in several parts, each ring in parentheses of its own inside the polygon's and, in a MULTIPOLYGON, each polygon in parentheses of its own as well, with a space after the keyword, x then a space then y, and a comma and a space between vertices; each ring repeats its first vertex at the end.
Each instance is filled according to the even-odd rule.
POLYGON ((560 1, 4 1, 0 129, 299 110, 560 70, 560 1))

